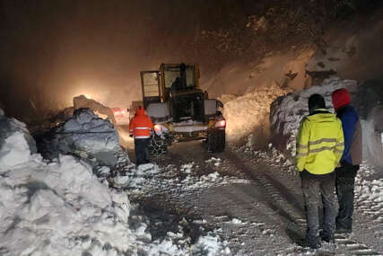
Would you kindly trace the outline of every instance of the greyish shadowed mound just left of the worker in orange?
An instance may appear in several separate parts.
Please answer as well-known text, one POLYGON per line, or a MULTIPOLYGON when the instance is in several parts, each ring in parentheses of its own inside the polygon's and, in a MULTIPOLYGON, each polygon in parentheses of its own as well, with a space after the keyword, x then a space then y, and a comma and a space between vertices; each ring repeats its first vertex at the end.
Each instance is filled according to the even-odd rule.
POLYGON ((90 109, 74 110, 74 116, 50 130, 39 147, 51 159, 60 153, 76 154, 106 165, 117 164, 116 155, 122 151, 114 126, 90 109))

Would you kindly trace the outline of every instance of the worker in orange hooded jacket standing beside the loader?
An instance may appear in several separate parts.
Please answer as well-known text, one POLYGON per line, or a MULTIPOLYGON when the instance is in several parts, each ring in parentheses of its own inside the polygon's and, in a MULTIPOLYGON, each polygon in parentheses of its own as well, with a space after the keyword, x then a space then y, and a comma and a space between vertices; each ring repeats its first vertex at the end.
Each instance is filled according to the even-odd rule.
POLYGON ((149 140, 152 134, 152 120, 146 115, 144 107, 135 110, 135 117, 130 120, 130 136, 135 138, 135 163, 136 165, 149 163, 149 140))

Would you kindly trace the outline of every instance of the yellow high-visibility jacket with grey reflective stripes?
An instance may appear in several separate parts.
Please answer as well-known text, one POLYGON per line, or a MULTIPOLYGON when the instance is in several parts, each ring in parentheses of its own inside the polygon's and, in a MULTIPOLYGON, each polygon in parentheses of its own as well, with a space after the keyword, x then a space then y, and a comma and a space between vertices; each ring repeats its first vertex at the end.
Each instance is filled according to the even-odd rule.
POLYGON ((296 164, 299 172, 333 172, 344 152, 342 122, 325 109, 318 109, 300 122, 296 164))

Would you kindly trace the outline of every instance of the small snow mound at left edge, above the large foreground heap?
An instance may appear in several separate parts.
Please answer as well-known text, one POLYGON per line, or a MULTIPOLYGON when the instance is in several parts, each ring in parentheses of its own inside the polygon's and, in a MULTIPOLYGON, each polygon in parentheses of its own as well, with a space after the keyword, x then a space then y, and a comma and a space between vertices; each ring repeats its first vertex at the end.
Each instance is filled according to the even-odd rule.
POLYGON ((0 172, 28 162, 37 152, 36 143, 26 125, 17 119, 8 119, 0 109, 0 172))

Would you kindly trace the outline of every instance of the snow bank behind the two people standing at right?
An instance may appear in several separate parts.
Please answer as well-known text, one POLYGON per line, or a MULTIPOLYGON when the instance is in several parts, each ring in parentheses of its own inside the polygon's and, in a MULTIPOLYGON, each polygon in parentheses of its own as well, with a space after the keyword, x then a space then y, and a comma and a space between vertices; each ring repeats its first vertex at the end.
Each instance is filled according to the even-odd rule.
POLYGON ((307 114, 309 96, 320 93, 326 99, 326 107, 334 111, 331 94, 339 88, 347 88, 352 103, 361 119, 363 159, 374 166, 383 166, 383 93, 380 84, 358 84, 353 80, 337 77, 326 79, 321 85, 290 93, 273 102, 270 113, 272 141, 274 146, 288 157, 295 154, 295 137, 300 120, 307 114))

